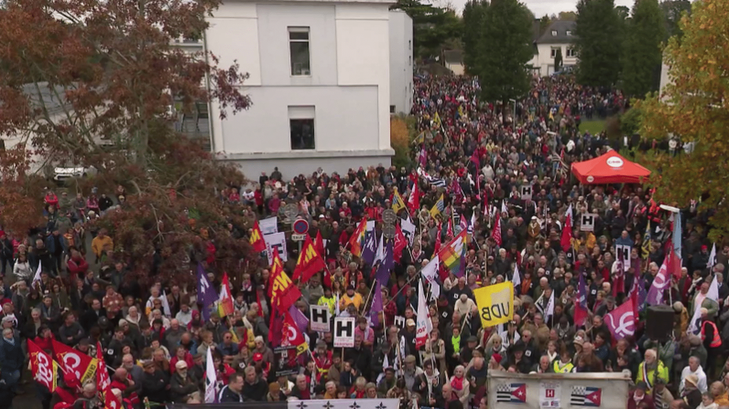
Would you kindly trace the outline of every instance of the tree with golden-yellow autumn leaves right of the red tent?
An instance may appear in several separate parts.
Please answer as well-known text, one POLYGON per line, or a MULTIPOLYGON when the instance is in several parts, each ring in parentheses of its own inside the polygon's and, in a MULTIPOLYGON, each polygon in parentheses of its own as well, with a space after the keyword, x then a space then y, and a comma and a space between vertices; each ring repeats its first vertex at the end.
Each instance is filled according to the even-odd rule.
POLYGON ((666 140, 669 134, 693 142, 691 154, 669 156, 655 152, 650 159, 656 200, 686 207, 701 199, 714 228, 713 239, 729 234, 729 2, 695 1, 690 17, 679 23, 683 35, 666 47, 670 83, 662 95, 637 106, 643 109, 642 138, 666 140))

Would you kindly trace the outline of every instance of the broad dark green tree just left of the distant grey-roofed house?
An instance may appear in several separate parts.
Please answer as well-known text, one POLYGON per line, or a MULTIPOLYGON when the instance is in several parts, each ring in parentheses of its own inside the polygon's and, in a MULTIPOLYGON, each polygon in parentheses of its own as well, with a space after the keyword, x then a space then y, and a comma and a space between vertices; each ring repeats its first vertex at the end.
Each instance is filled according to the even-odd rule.
MULTIPOLYGON (((517 0, 469 1, 468 25, 475 37, 464 41, 469 74, 480 79, 484 100, 507 102, 529 91, 529 60, 534 55, 531 12, 517 0)), ((464 8, 464 21, 467 20, 464 8)))

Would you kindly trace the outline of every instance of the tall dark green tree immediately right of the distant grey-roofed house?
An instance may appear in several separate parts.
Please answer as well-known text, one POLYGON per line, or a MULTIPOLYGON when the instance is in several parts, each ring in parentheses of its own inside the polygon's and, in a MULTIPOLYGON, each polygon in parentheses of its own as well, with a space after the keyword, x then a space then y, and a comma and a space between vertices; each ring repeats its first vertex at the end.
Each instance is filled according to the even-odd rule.
POLYGON ((580 0, 577 3, 575 45, 580 63, 577 81, 583 85, 610 86, 620 77, 620 19, 613 0, 580 0))

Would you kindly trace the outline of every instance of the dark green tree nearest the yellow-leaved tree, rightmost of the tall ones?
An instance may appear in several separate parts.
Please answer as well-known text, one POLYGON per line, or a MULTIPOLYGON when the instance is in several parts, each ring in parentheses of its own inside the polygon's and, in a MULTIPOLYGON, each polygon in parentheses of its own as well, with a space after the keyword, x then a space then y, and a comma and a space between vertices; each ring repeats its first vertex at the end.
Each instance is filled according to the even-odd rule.
POLYGON ((623 41, 623 91, 643 98, 660 85, 661 43, 666 36, 658 0, 639 0, 627 22, 623 41))

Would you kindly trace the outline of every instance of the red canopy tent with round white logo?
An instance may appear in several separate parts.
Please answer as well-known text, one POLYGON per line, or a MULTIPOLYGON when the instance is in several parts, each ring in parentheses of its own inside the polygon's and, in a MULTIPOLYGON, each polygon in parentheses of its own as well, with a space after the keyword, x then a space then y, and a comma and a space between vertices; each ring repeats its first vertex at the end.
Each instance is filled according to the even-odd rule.
POLYGON ((650 175, 650 170, 630 162, 616 151, 572 164, 572 173, 580 183, 601 185, 605 183, 642 183, 650 175))

